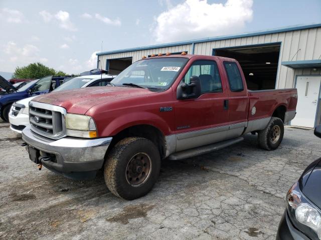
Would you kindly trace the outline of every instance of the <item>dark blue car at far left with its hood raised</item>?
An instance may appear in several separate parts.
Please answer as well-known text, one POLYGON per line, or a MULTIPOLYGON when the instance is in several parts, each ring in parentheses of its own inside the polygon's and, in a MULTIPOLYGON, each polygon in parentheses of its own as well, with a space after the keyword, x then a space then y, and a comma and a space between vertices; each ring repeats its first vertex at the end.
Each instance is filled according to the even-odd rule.
POLYGON ((17 89, 13 84, 0 76, 0 117, 9 121, 11 105, 24 98, 48 93, 62 84, 66 76, 45 76, 39 80, 28 82, 17 89))

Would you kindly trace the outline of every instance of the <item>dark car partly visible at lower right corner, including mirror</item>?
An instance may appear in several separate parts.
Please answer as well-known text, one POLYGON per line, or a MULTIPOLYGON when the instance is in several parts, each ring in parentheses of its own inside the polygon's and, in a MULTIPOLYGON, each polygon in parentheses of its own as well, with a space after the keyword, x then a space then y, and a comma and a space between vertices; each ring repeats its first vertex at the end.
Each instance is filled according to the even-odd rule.
MULTIPOLYGON (((321 125, 314 134, 321 138, 321 125)), ((309 164, 288 190, 276 239, 321 239, 321 158, 309 164)))

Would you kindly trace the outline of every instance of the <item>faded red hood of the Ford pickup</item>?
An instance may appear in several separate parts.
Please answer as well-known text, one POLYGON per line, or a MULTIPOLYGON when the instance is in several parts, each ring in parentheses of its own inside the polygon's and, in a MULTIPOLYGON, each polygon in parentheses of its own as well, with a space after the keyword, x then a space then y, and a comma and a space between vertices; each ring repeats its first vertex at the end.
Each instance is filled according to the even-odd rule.
POLYGON ((85 114, 91 107, 101 103, 153 93, 136 87, 97 86, 52 92, 38 96, 33 101, 62 106, 67 112, 85 114))

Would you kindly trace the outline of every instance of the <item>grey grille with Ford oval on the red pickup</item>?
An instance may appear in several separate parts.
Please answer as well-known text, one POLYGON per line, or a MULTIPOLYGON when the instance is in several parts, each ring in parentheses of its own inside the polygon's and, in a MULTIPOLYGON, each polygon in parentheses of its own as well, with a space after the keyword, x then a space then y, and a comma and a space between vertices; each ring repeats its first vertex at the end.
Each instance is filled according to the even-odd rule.
POLYGON ((52 139, 65 136, 65 115, 63 107, 35 101, 29 103, 31 129, 40 135, 52 139))

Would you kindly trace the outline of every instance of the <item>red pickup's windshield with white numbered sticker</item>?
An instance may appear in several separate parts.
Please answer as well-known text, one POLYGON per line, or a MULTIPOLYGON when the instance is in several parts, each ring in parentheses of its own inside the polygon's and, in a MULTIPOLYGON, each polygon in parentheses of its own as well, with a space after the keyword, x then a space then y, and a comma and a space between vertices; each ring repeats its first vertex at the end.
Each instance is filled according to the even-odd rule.
MULTIPOLYGON (((168 89, 185 66, 188 58, 164 57, 139 60, 128 66, 111 83, 132 83, 150 89, 168 89)), ((126 84, 128 85, 128 84, 126 84)))

